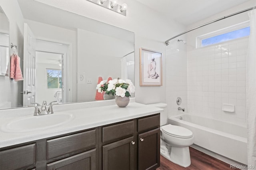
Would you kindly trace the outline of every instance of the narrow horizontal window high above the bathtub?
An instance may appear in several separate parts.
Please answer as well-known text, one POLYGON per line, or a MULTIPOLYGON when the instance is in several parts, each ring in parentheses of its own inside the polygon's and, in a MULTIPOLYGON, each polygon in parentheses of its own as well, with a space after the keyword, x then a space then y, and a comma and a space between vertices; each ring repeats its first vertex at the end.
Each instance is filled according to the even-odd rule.
POLYGON ((205 47, 249 36, 250 26, 248 25, 248 22, 243 22, 222 30, 199 36, 197 37, 197 47, 205 47))

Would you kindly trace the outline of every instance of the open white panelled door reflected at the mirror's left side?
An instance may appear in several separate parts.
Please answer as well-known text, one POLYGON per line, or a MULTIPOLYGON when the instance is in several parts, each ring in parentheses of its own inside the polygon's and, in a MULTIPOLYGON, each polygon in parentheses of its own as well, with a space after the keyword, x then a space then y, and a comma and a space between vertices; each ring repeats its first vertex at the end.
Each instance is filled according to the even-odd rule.
POLYGON ((24 81, 23 106, 35 102, 36 38, 24 23, 24 81))

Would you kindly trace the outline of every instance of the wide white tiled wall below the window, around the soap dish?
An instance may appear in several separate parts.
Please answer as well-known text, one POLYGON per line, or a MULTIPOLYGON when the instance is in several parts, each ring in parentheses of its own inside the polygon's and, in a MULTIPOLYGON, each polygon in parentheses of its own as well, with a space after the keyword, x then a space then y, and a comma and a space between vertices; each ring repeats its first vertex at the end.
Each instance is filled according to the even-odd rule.
POLYGON ((187 52, 188 111, 246 124, 246 53, 248 38, 187 52), (235 112, 222 111, 222 104, 235 112))

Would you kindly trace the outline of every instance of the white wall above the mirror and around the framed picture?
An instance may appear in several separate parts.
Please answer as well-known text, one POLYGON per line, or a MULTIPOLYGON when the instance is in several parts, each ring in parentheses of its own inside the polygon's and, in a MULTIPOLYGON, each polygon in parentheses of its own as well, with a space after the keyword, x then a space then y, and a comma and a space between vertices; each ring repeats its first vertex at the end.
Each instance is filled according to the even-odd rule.
POLYGON ((128 4, 127 16, 122 16, 85 0, 37 1, 134 32, 136 101, 139 103, 166 102, 166 45, 164 42, 171 36, 184 31, 183 26, 154 12, 136 0, 123 1, 128 4), (140 47, 162 52, 163 86, 140 87, 140 47))

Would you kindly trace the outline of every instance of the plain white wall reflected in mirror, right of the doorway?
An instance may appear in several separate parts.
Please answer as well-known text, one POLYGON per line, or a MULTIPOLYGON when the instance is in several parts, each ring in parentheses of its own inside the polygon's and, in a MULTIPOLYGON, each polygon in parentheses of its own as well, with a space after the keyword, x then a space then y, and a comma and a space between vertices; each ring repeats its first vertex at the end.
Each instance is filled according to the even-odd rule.
POLYGON ((120 59, 133 51, 133 43, 81 29, 77 31, 77 40, 78 73, 84 72, 85 80, 92 79, 92 83, 77 84, 77 101, 94 101, 98 77, 122 78, 120 59))

